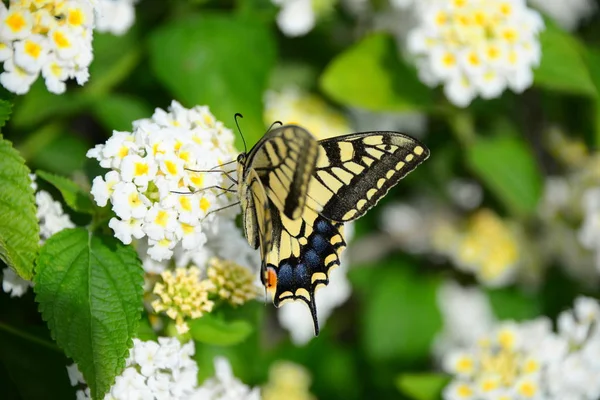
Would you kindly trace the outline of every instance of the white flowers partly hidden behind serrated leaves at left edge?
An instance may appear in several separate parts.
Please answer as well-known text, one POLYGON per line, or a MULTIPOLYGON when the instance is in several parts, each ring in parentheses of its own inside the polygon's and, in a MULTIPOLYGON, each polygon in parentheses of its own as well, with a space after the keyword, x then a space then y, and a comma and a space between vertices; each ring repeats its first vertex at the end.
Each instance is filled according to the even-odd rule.
MULTIPOLYGON (((36 191, 36 176, 31 174, 29 177, 31 178, 31 187, 36 191)), ((63 229, 75 227, 69 214, 65 214, 60 202, 55 201, 50 193, 45 190, 37 191, 35 203, 37 205, 36 216, 40 224, 40 244, 63 229)), ((9 293, 11 297, 23 296, 32 285, 32 282, 21 278, 12 269, 4 268, 2 270, 2 290, 9 293)))

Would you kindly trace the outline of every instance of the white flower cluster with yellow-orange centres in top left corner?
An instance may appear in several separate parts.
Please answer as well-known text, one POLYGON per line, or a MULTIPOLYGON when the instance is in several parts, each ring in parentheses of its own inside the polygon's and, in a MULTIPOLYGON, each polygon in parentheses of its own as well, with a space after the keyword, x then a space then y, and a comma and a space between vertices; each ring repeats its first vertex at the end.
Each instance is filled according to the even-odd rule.
POLYGON ((16 94, 44 77, 52 93, 74 78, 83 85, 92 62, 93 8, 86 0, 11 0, 0 2, 0 83, 16 94))

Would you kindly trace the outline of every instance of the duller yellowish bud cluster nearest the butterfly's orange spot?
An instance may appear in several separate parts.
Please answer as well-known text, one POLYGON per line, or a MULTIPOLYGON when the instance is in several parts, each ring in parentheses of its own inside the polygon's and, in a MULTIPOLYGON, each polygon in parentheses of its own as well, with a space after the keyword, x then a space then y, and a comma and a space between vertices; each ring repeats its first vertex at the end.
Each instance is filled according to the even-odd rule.
POLYGON ((212 258, 208 262, 207 275, 213 292, 232 306, 242 305, 259 294, 254 274, 232 261, 212 258))

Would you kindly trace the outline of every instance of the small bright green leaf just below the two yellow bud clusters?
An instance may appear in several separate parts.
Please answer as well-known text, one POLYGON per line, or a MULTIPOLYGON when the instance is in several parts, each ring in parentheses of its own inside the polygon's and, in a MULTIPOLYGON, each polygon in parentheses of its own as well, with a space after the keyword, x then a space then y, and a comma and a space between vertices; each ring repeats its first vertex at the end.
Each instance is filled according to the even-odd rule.
POLYGON ((226 321, 213 314, 206 314, 188 324, 194 340, 217 346, 233 346, 241 343, 254 330, 252 324, 246 320, 226 321))

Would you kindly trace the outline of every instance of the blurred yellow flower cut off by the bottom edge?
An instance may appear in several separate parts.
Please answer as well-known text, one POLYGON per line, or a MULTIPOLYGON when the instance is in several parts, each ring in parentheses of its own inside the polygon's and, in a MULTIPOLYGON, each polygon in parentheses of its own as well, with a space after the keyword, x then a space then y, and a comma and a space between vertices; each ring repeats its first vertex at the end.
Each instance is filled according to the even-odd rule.
POLYGON ((301 365, 277 361, 269 368, 269 381, 262 390, 263 400, 314 400, 310 393, 311 378, 301 365))

